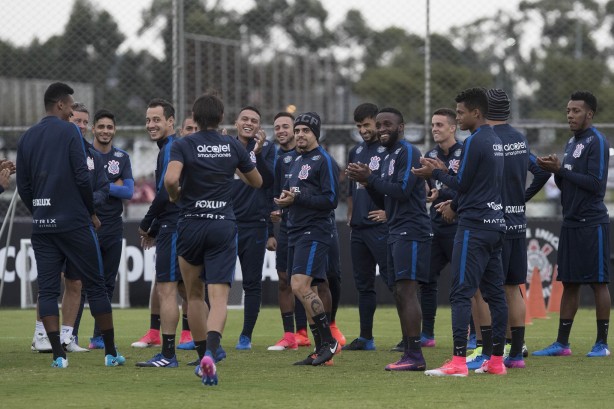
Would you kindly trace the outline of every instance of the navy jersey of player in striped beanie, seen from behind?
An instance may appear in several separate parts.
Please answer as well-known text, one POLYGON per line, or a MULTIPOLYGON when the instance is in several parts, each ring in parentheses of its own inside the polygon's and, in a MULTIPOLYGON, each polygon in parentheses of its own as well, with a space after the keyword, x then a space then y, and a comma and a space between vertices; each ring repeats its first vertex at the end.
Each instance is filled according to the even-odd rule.
POLYGON ((525 214, 527 171, 533 173, 532 191, 539 191, 550 178, 550 173, 535 163, 535 156, 529 151, 527 138, 509 124, 493 126, 501 139, 505 166, 503 167, 503 189, 501 200, 507 228, 506 238, 524 237, 527 231, 525 214))

